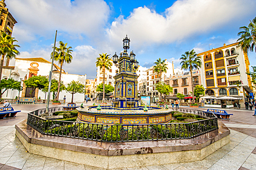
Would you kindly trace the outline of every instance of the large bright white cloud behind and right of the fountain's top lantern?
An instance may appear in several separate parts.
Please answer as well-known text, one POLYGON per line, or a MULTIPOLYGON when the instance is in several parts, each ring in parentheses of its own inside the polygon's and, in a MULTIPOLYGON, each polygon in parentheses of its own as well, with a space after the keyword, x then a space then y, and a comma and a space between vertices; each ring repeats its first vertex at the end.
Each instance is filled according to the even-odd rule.
POLYGON ((120 41, 120 37, 128 34, 136 40, 137 48, 152 43, 172 43, 217 30, 254 10, 252 0, 181 0, 167 8, 165 15, 144 6, 134 9, 127 19, 118 17, 107 34, 111 41, 120 41))

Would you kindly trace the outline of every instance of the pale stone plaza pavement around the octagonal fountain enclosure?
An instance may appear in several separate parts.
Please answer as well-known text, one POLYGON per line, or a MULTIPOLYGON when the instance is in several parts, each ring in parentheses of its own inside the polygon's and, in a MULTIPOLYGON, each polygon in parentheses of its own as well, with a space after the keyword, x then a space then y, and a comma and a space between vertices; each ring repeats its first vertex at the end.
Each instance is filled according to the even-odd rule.
MULTIPOLYGON (((84 105, 86 105, 86 103, 84 103, 84 105)), ((21 113, 18 113, 15 118, 0 120, 0 169, 98 169, 83 164, 28 153, 15 136, 15 124, 24 120, 28 111, 45 106, 12 106, 17 110, 21 110, 21 113)), ((51 105, 50 107, 54 106, 51 105)), ((205 108, 199 109, 205 110, 205 108)), ((223 123, 230 128, 231 142, 215 151, 204 160, 127 169, 256 169, 256 118, 252 116, 253 111, 226 110, 228 113, 234 114, 230 116, 229 121, 223 121, 223 123)))

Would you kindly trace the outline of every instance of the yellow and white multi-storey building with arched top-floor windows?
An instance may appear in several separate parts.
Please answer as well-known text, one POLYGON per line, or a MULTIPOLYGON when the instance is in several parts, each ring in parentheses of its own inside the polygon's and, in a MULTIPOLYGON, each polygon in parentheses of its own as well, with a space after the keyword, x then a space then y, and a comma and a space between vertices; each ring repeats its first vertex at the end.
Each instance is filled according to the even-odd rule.
MULTIPOLYGON (((205 94, 209 96, 232 96, 242 98, 233 100, 244 103, 246 96, 252 92, 247 54, 241 50, 239 43, 201 52, 201 81, 205 94)), ((231 104, 231 103, 230 103, 231 104)))

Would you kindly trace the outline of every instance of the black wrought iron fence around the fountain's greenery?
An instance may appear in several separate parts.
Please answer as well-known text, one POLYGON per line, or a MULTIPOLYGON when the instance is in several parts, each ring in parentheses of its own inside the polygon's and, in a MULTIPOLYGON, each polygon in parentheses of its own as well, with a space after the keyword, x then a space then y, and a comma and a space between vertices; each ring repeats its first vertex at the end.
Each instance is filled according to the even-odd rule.
MULTIPOLYGON (((60 110, 60 107, 51 108, 52 112, 60 110)), ((46 135, 102 142, 188 139, 218 129, 217 117, 210 112, 176 108, 174 111, 196 114, 206 119, 192 123, 103 125, 63 120, 46 120, 39 117, 45 112, 45 109, 38 109, 28 114, 27 124, 46 135)))

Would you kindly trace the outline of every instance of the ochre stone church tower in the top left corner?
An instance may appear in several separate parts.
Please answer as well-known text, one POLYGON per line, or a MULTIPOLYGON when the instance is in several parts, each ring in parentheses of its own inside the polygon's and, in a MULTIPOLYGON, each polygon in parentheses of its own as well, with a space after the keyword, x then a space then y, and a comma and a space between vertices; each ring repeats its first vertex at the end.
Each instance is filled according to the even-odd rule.
MULTIPOLYGON (((0 0, 0 30, 11 36, 13 27, 17 21, 12 17, 8 8, 6 8, 4 1, 6 0, 0 0)), ((6 66, 9 65, 9 62, 9 60, 6 61, 6 66)))

